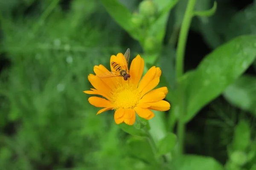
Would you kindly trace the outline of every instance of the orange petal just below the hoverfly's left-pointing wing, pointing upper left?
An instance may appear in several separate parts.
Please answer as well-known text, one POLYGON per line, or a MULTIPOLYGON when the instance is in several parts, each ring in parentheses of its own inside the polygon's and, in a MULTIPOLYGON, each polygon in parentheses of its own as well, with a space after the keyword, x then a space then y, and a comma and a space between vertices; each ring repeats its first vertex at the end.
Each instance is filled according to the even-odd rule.
POLYGON ((99 77, 93 74, 89 74, 88 80, 93 85, 93 87, 96 88, 96 90, 98 90, 101 94, 108 96, 106 98, 111 99, 111 88, 106 85, 99 77))

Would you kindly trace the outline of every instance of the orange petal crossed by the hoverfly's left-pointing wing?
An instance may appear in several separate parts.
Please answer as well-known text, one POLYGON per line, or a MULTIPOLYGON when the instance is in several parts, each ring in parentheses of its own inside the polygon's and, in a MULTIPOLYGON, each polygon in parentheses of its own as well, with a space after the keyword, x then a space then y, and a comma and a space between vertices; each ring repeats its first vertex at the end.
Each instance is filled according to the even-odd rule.
MULTIPOLYGON (((93 67, 94 73, 99 76, 101 74, 110 72, 107 68, 104 67, 104 65, 95 65, 93 67)), ((102 78, 101 79, 106 85, 108 85, 111 89, 116 88, 116 77, 108 77, 108 78, 102 78)))

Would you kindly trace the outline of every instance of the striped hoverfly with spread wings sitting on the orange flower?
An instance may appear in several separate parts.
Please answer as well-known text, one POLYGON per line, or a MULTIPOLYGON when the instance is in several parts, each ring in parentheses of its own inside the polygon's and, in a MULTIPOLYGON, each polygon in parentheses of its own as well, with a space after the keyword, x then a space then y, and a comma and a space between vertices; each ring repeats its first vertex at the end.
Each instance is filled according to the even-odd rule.
POLYGON ((129 63, 129 59, 130 59, 130 48, 128 48, 126 51, 125 51, 125 54, 124 54, 125 57, 123 57, 123 60, 122 60, 122 64, 123 64, 123 67, 122 68, 118 63, 116 62, 111 62, 111 66, 115 69, 116 72, 106 72, 104 74, 101 74, 99 75, 98 77, 99 78, 108 78, 108 77, 123 77, 124 80, 128 80, 128 78, 130 78, 130 74, 128 74, 128 63, 129 63))

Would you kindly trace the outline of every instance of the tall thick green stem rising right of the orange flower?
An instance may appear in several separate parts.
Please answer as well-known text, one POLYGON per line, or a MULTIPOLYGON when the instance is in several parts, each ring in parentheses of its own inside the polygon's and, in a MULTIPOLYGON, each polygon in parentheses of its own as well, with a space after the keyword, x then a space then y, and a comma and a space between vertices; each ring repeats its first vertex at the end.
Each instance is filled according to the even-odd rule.
POLYGON ((193 11, 195 7, 196 0, 189 0, 186 12, 184 14, 184 18, 180 28, 179 41, 177 45, 177 58, 176 58, 176 83, 178 84, 178 95, 179 95, 179 122, 177 135, 179 139, 179 156, 183 154, 183 145, 184 145, 184 136, 185 136, 185 122, 184 122, 184 114, 185 114, 185 105, 184 105, 184 89, 181 87, 178 79, 183 75, 183 62, 184 62, 184 54, 186 48, 186 40, 189 32, 189 26, 193 17, 193 11))

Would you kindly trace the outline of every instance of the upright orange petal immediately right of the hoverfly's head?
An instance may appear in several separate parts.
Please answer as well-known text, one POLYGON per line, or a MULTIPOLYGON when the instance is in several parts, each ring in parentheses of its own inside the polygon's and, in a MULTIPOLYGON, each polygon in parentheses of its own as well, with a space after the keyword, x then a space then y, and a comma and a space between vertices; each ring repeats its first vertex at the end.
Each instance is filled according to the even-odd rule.
POLYGON ((131 62, 131 67, 129 72, 129 74, 131 75, 130 82, 136 85, 136 87, 140 82, 140 79, 143 74, 143 70, 144 70, 144 59, 141 58, 140 55, 137 55, 137 57, 135 57, 131 62))

